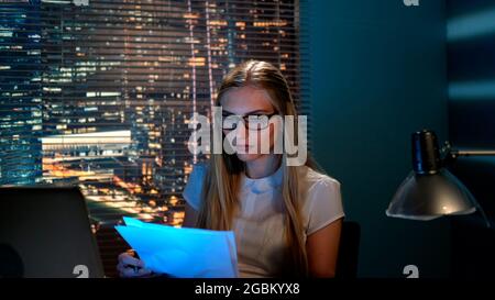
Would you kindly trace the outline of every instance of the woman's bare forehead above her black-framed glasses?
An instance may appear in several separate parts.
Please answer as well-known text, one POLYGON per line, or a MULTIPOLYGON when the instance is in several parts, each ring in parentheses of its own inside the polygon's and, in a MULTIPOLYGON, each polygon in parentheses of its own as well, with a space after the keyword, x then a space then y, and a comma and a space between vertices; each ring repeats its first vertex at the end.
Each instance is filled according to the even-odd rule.
POLYGON ((239 114, 255 110, 273 110, 268 92, 250 86, 227 91, 220 99, 220 104, 224 110, 239 114))

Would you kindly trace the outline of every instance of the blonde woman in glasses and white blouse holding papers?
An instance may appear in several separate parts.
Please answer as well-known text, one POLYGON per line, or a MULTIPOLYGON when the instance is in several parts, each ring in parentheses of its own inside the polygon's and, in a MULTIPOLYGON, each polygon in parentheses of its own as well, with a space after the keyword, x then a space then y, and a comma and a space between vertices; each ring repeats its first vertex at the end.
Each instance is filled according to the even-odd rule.
MULTIPOLYGON (((280 71, 265 62, 239 65, 223 79, 216 105, 223 118, 242 116, 235 129, 223 130, 238 131, 237 153, 212 154, 194 167, 184 191, 184 226, 233 230, 240 277, 333 277, 344 216, 340 184, 310 158, 288 166, 285 153, 253 153, 250 144, 255 134, 257 145, 270 141, 273 149, 277 132, 273 124, 248 129, 248 115, 297 115, 280 71)), ((130 254, 119 256, 118 268, 124 277, 148 274, 130 254)))

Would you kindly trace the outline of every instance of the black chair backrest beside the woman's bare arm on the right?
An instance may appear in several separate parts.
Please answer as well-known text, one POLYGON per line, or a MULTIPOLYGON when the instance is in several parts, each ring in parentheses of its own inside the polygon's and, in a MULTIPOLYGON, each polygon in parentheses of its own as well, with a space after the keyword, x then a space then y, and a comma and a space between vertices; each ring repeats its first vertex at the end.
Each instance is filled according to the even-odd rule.
POLYGON ((336 278, 356 278, 360 254, 361 226, 358 222, 344 221, 340 236, 336 278))

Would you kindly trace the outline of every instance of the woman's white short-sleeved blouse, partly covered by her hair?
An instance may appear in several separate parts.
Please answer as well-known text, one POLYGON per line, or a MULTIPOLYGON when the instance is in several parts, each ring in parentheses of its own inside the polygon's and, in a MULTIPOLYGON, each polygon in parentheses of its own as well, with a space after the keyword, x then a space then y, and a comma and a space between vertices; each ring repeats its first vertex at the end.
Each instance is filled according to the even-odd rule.
MULTIPOLYGON (((340 184, 309 167, 299 167, 305 238, 333 221, 343 218, 340 184)), ((195 165, 184 190, 191 208, 199 210, 206 165, 195 165)), ((273 277, 284 264, 283 168, 271 176, 252 179, 242 176, 240 215, 233 231, 238 248, 240 277, 273 277)))

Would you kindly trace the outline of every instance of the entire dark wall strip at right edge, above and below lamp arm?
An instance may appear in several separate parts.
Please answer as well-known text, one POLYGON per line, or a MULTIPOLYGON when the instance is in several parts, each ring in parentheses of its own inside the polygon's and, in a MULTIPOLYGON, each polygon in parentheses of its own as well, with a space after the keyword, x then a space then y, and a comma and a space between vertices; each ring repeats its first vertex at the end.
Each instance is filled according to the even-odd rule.
MULTIPOLYGON (((447 1, 449 140, 461 148, 495 148, 495 1, 447 1)), ((466 157, 452 171, 495 220, 495 157, 466 157)), ((452 220, 452 274, 494 278, 495 231, 481 214, 452 220)), ((493 222, 495 224, 495 222, 493 222)))

